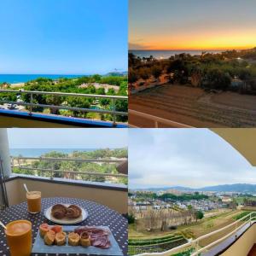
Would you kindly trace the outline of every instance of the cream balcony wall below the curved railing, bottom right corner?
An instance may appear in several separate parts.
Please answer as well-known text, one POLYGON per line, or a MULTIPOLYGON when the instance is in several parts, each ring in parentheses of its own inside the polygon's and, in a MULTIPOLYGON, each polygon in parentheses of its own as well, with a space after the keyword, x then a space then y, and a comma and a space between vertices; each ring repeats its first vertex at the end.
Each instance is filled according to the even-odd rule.
POLYGON ((247 256, 256 243, 256 224, 253 224, 221 256, 247 256))

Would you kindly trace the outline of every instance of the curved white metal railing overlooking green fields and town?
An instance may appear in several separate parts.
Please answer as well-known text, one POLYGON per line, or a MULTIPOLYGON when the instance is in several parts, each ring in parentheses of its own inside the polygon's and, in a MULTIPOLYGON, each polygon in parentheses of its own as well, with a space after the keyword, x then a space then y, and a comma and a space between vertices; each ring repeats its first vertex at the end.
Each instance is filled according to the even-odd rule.
MULTIPOLYGON (((188 250, 189 248, 194 248, 195 249, 195 252, 192 253, 191 256, 198 256, 198 255, 200 255, 200 253, 206 252, 209 248, 214 247, 219 242, 224 241, 228 237, 234 235, 238 230, 241 230, 241 228, 243 226, 245 226, 246 224, 250 224, 250 226, 251 226, 253 224, 253 222, 255 221, 255 219, 256 219, 256 216, 252 216, 255 213, 256 212, 250 212, 246 216, 244 216, 242 218, 239 218, 235 222, 233 222, 231 224, 228 224, 228 225, 224 226, 223 228, 221 228, 219 230, 212 231, 211 233, 208 233, 204 236, 200 236, 200 237, 196 238, 195 240, 189 241, 189 242, 187 242, 187 243, 185 243, 185 244, 183 244, 179 247, 174 247, 174 248, 172 248, 172 249, 170 249, 166 252, 162 252, 162 253, 141 253, 141 254, 137 254, 135 256, 171 256, 171 255, 176 254, 176 253, 182 253, 182 252, 188 250), (249 219, 247 221, 245 221, 244 223, 242 223, 241 225, 239 225, 239 227, 237 227, 237 224, 239 222, 241 222, 242 220, 246 219, 246 218, 249 218, 249 219), (218 234, 219 232, 227 230, 227 229, 229 229, 230 227, 233 227, 233 226, 236 227, 235 230, 232 230, 227 235, 222 236, 218 240, 211 242, 210 244, 208 244, 205 247, 200 247, 199 246, 199 242, 201 240, 206 239, 206 238, 211 237, 211 236, 214 236, 214 235, 218 234)), ((236 235, 236 237, 237 237, 237 235, 236 235)))

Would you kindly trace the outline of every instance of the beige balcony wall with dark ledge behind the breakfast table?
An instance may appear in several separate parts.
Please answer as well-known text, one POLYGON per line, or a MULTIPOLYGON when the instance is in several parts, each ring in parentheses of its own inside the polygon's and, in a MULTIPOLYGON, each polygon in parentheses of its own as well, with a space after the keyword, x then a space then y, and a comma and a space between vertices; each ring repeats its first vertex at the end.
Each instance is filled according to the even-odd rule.
POLYGON ((39 190, 43 197, 73 197, 112 208, 123 214, 127 212, 127 187, 108 183, 91 183, 67 181, 64 179, 50 180, 44 177, 12 177, 6 183, 9 205, 26 201, 23 183, 30 190, 39 190))

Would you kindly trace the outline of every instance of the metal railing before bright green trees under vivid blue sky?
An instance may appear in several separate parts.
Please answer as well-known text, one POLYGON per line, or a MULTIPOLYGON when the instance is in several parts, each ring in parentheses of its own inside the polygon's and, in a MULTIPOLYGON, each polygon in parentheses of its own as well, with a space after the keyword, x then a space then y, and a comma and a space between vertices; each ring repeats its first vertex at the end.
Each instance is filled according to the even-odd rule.
POLYGON ((40 107, 40 108, 52 108, 52 109, 67 109, 71 111, 79 111, 79 112, 91 112, 91 113, 109 113, 113 116, 113 124, 116 122, 116 116, 127 116, 127 112, 116 111, 116 101, 122 100, 127 101, 128 96, 107 96, 107 95, 94 95, 94 94, 82 94, 82 93, 67 93, 67 92, 50 92, 50 91, 33 91, 33 90, 0 90, 0 93, 15 93, 15 94, 28 94, 30 96, 30 102, 12 102, 1 100, 1 103, 7 104, 16 104, 19 106, 29 107, 29 113, 32 115, 32 108, 40 107), (75 96, 75 97, 87 97, 87 98, 105 98, 110 99, 113 102, 113 109, 91 109, 91 108, 74 108, 69 106, 61 106, 61 105, 46 105, 46 104, 35 104, 33 103, 34 95, 46 95, 46 96, 75 96))

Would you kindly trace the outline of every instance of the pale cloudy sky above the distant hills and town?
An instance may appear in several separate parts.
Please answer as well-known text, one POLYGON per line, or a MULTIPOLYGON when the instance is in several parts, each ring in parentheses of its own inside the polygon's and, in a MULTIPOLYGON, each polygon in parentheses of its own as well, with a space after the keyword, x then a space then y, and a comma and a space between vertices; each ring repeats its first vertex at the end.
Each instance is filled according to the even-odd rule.
POLYGON ((256 167, 207 129, 130 129, 130 189, 256 184, 256 167))

